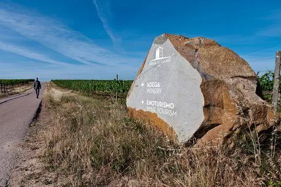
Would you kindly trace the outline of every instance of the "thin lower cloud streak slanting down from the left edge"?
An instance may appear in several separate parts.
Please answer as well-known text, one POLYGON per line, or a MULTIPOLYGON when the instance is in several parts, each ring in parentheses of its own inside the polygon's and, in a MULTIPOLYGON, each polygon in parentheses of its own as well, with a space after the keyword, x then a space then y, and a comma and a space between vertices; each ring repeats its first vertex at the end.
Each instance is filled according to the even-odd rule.
POLYGON ((47 62, 47 63, 51 63, 51 64, 64 64, 64 65, 67 64, 67 63, 64 63, 64 62, 53 60, 46 55, 33 52, 31 50, 13 45, 11 43, 5 43, 5 42, 0 41, 0 50, 4 50, 4 51, 11 52, 11 53, 14 53, 14 54, 18 54, 18 55, 21 55, 21 56, 24 56, 24 57, 27 57, 27 58, 30 58, 30 59, 34 59, 34 60, 38 60, 38 61, 42 61, 42 62, 47 62))

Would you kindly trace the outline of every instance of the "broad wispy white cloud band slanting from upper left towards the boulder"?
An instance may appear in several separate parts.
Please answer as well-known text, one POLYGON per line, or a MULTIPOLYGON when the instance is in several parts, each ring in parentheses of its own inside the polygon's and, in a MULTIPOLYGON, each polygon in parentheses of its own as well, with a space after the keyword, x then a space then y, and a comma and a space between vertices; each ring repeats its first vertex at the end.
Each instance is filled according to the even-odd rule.
POLYGON ((15 4, 0 3, 0 24, 84 64, 116 66, 139 62, 98 46, 60 21, 15 4))

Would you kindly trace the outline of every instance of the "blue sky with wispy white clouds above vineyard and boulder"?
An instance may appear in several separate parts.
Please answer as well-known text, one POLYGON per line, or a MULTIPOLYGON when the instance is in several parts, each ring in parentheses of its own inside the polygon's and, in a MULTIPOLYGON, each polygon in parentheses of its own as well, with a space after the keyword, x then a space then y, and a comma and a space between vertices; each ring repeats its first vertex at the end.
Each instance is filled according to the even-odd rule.
POLYGON ((0 0, 0 79, 134 79, 155 36, 215 39, 256 71, 281 50, 281 1, 0 0))

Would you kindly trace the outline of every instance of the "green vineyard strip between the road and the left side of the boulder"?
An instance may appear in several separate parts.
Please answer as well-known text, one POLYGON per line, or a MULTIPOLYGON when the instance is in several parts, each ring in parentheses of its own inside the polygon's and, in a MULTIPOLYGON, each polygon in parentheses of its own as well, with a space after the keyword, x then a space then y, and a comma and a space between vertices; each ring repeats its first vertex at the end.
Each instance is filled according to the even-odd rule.
POLYGON ((51 80, 60 87, 89 92, 97 91, 106 94, 127 93, 132 80, 51 80))

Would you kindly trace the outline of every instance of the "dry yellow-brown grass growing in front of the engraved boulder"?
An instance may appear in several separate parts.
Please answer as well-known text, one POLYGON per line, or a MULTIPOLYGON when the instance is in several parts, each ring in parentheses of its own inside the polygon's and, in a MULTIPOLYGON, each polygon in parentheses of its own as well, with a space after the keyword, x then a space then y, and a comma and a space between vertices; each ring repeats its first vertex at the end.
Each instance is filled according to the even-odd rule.
POLYGON ((49 103, 41 160, 65 187, 278 187, 280 137, 256 153, 255 139, 232 146, 186 148, 148 124, 131 119, 125 105, 81 96, 48 83, 49 103), (254 143, 253 143, 254 141, 254 143), (258 160, 261 162, 257 162, 258 160), (275 186, 274 186, 275 185, 275 186))

